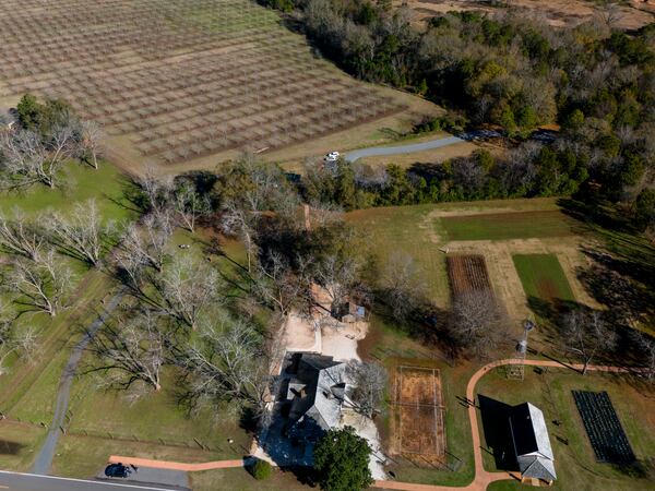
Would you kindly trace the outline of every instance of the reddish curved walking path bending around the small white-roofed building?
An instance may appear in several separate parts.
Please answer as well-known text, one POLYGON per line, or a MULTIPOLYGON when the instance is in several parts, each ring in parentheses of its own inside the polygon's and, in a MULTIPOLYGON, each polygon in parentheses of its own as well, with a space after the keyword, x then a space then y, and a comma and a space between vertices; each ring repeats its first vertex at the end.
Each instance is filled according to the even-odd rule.
MULTIPOLYGON (((488 363, 480 368, 473 376, 468 380, 466 385, 466 398, 471 402, 475 402, 475 387, 478 381, 485 376, 490 370, 503 367, 505 364, 520 364, 525 363, 531 367, 553 367, 553 368, 568 368, 582 372, 583 364, 564 364, 559 361, 551 360, 519 360, 519 359, 507 359, 498 360, 488 363)), ((629 370, 622 367, 606 367, 591 364, 587 370, 602 371, 602 372, 628 372, 629 370)), ((490 472, 485 470, 483 464, 483 452, 480 442, 480 432, 478 428, 478 418, 476 414, 476 407, 474 404, 468 406, 468 419, 471 421, 471 432, 473 436, 473 455, 475 460, 475 477, 473 482, 465 487, 453 487, 453 486, 432 486, 432 484, 417 484, 414 482, 398 482, 398 481, 376 481, 373 484, 376 488, 381 489, 395 489, 405 491, 485 491, 487 487, 495 481, 508 480, 508 479, 520 479, 519 475, 512 472, 490 472)))

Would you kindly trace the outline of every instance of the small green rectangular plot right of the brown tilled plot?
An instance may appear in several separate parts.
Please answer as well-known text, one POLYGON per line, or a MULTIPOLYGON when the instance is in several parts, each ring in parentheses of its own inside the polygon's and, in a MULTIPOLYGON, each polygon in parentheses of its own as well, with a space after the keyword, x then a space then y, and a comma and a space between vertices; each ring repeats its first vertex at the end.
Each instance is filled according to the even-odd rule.
POLYGON ((512 260, 528 299, 575 300, 557 255, 515 254, 512 260))

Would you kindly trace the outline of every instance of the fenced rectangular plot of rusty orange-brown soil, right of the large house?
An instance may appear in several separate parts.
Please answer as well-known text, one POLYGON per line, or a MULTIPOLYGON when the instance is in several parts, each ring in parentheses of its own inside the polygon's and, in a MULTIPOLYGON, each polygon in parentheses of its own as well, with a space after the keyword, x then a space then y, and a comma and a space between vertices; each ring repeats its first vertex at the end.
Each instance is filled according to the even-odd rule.
POLYGON ((418 465, 439 466, 445 455, 439 370, 398 366, 393 416, 396 453, 418 465))

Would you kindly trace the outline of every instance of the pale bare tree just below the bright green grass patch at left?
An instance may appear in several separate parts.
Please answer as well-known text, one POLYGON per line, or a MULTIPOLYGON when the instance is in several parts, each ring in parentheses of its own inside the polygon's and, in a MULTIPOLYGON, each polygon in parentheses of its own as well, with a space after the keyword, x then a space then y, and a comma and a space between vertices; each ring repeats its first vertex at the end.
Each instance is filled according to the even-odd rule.
POLYGON ((76 203, 69 216, 47 216, 46 227, 56 246, 92 266, 100 263, 105 242, 115 229, 112 223, 103 224, 94 199, 76 203))

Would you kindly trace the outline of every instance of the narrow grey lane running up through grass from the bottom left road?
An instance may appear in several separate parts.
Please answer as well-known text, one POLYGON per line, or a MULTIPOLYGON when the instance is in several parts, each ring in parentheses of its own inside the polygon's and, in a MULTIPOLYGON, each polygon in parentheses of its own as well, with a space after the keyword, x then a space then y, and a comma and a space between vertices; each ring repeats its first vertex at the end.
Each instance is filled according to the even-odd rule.
POLYGON ((57 405, 55 407, 55 416, 52 417, 52 422, 50 423, 50 430, 48 431, 48 435, 46 436, 46 441, 38 452, 34 464, 32 465, 31 472, 39 474, 39 475, 48 475, 50 474, 50 467, 52 466, 52 458, 55 457, 55 448, 57 447, 57 441, 59 440, 59 434, 61 433, 60 427, 63 426, 63 420, 66 417, 66 411, 68 410, 69 398, 71 395, 71 386, 73 385, 73 379, 75 376, 75 371, 78 370, 78 363, 80 362, 80 358, 82 358, 82 354, 86 346, 88 345, 88 340, 91 336, 95 334, 95 332, 103 325, 105 319, 111 313, 114 309, 120 302, 122 298, 122 292, 116 294, 109 303, 107 303, 105 311, 100 314, 98 319, 88 327, 87 334, 80 339, 78 345, 73 348, 71 352, 71 357, 61 374, 61 380, 59 382, 59 392, 57 393, 57 405))

